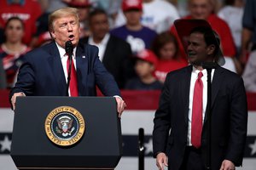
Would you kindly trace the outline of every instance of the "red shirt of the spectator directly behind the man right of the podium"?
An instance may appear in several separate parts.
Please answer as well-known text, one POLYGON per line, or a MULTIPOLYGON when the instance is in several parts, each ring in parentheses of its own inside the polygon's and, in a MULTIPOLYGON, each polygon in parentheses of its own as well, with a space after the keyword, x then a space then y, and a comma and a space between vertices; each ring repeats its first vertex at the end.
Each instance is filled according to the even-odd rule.
MULTIPOLYGON (((192 19, 192 16, 189 15, 184 17, 183 19, 192 19)), ((207 21, 210 24, 210 26, 212 26, 212 29, 216 31, 218 33, 218 36, 220 37, 220 42, 222 45, 222 51, 224 56, 234 57, 236 55, 236 46, 228 24, 224 20, 218 18, 216 14, 210 14, 210 16, 207 18, 207 21)), ((180 42, 177 36, 175 26, 172 26, 171 31, 177 37, 181 54, 183 58, 186 59, 187 55, 184 52, 182 42, 180 42)))

